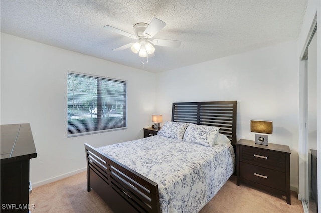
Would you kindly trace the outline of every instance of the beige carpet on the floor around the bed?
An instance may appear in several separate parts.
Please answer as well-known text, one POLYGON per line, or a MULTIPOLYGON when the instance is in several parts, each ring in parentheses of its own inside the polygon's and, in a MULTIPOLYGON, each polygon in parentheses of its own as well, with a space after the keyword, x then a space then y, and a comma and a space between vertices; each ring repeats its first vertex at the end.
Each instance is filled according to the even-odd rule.
MULTIPOLYGON (((31 212, 113 212, 92 190, 86 190, 86 172, 32 189, 31 212)), ((303 207, 296 192, 291 194, 292 205, 285 197, 236 185, 232 176, 200 213, 208 212, 291 212, 301 213, 303 207)))

